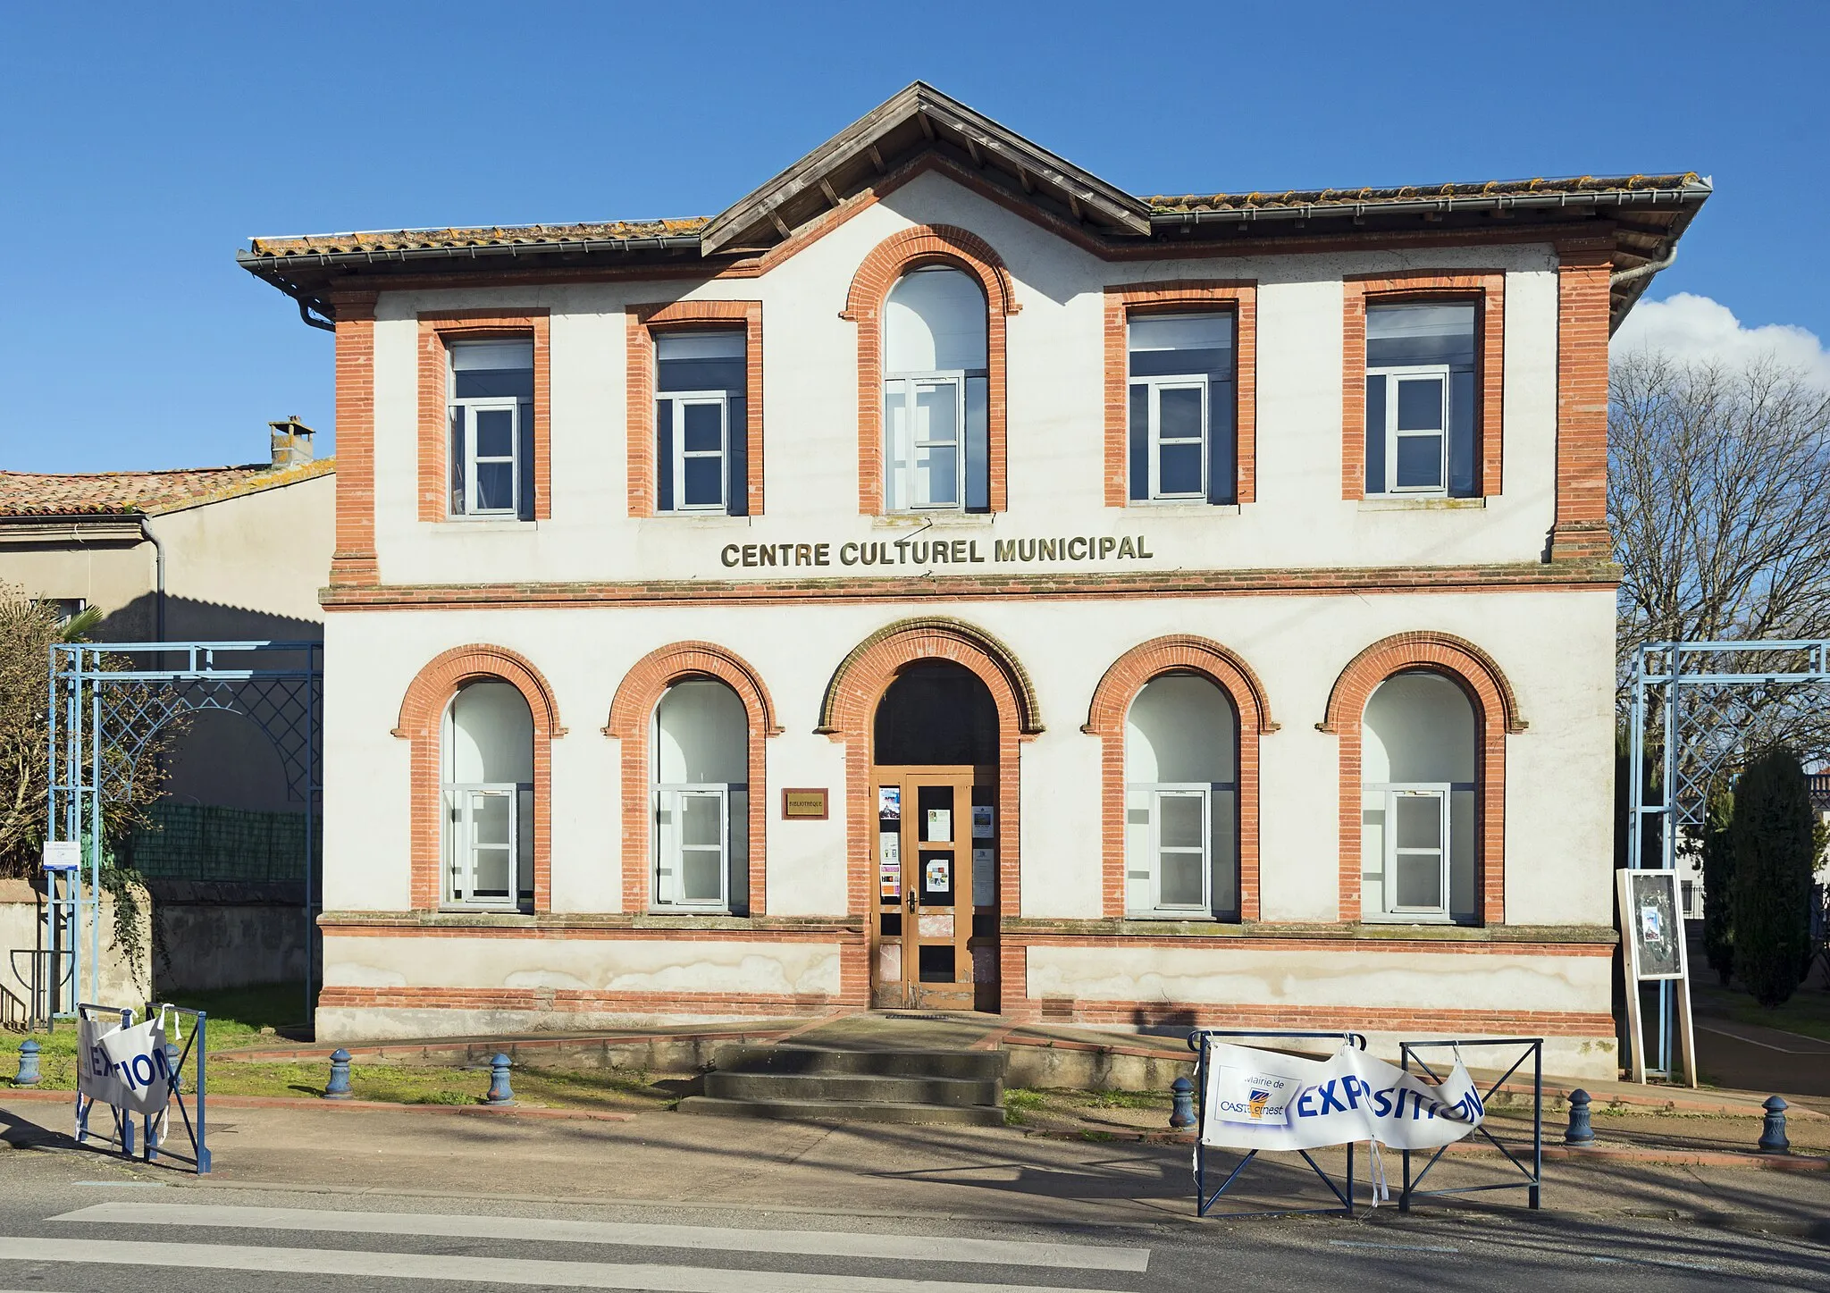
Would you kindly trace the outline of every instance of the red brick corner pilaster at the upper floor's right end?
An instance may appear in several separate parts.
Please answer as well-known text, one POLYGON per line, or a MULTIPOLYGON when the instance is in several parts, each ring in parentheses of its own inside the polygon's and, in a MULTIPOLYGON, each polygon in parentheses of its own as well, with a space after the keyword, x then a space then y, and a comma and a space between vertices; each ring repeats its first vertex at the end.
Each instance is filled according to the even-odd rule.
POLYGON ((1565 249, 1557 265, 1554 561, 1605 561, 1614 554, 1607 529, 1609 271, 1605 249, 1565 249))

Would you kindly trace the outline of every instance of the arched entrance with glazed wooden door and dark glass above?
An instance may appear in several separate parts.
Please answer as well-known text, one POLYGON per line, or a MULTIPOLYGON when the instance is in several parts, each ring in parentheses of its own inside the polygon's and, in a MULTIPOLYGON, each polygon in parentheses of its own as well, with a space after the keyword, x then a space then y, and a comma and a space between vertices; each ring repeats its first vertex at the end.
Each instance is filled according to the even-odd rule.
POLYGON ((997 1010, 997 702, 952 660, 902 666, 871 724, 871 1004, 997 1010))

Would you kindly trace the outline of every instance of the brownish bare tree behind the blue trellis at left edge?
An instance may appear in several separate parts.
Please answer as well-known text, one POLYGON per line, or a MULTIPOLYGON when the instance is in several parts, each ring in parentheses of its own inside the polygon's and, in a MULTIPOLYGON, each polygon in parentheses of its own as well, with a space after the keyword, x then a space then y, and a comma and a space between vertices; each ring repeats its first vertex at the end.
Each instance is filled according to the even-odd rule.
MULTIPOLYGON (((51 646, 79 638, 95 618, 86 613, 59 622, 55 607, 0 583, 0 876, 29 876, 38 865, 49 817, 51 646)), ((123 710, 139 717, 110 732, 101 750, 102 781, 110 786, 102 799, 104 845, 146 825, 148 808, 165 786, 161 755, 183 728, 181 715, 163 724, 146 717, 157 713, 152 706, 123 710)), ((84 750, 84 759, 92 753, 84 750)))

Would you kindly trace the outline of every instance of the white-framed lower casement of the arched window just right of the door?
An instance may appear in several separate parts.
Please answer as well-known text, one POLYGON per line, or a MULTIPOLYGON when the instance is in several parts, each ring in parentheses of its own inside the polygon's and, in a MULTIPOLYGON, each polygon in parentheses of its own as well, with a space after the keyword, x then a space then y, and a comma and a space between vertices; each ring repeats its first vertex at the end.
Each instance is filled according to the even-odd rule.
POLYGON ((1232 783, 1133 783, 1125 786, 1125 913, 1131 918, 1213 920, 1215 900, 1232 909, 1232 783), (1221 867, 1224 872, 1226 869, 1221 867))

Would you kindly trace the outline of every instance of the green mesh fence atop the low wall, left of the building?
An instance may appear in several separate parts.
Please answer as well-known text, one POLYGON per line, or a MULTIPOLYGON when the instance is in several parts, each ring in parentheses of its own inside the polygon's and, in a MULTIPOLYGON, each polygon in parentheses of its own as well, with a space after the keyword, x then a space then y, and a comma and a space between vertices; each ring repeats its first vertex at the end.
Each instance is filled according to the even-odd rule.
MULTIPOLYGON (((159 803, 152 828, 134 832, 132 867, 148 880, 285 883, 306 878, 306 814, 159 803)), ((313 821, 313 865, 324 858, 313 821)))

